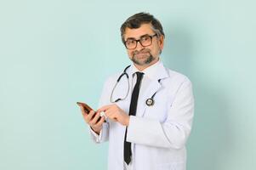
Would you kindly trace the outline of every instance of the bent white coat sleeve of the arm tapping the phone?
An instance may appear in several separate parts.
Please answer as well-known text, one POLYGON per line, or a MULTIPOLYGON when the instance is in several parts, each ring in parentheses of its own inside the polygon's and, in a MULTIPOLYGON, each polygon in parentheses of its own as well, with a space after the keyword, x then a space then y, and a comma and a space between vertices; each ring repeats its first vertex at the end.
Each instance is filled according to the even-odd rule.
POLYGON ((183 82, 172 105, 168 105, 168 117, 159 122, 145 117, 130 116, 127 140, 135 144, 181 149, 191 133, 194 115, 194 97, 190 80, 183 82))

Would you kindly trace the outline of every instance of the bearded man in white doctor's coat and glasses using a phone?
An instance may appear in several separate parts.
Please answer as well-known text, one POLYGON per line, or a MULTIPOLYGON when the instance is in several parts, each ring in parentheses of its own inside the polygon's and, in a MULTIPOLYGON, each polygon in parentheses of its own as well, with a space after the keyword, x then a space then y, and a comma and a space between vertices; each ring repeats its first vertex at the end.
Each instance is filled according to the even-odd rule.
POLYGON ((96 113, 86 115, 81 108, 92 138, 109 141, 109 170, 185 170, 194 112, 191 82, 162 65, 164 33, 153 15, 134 14, 121 34, 133 64, 105 82, 96 113), (106 122, 104 116, 97 122, 102 112, 106 122))

